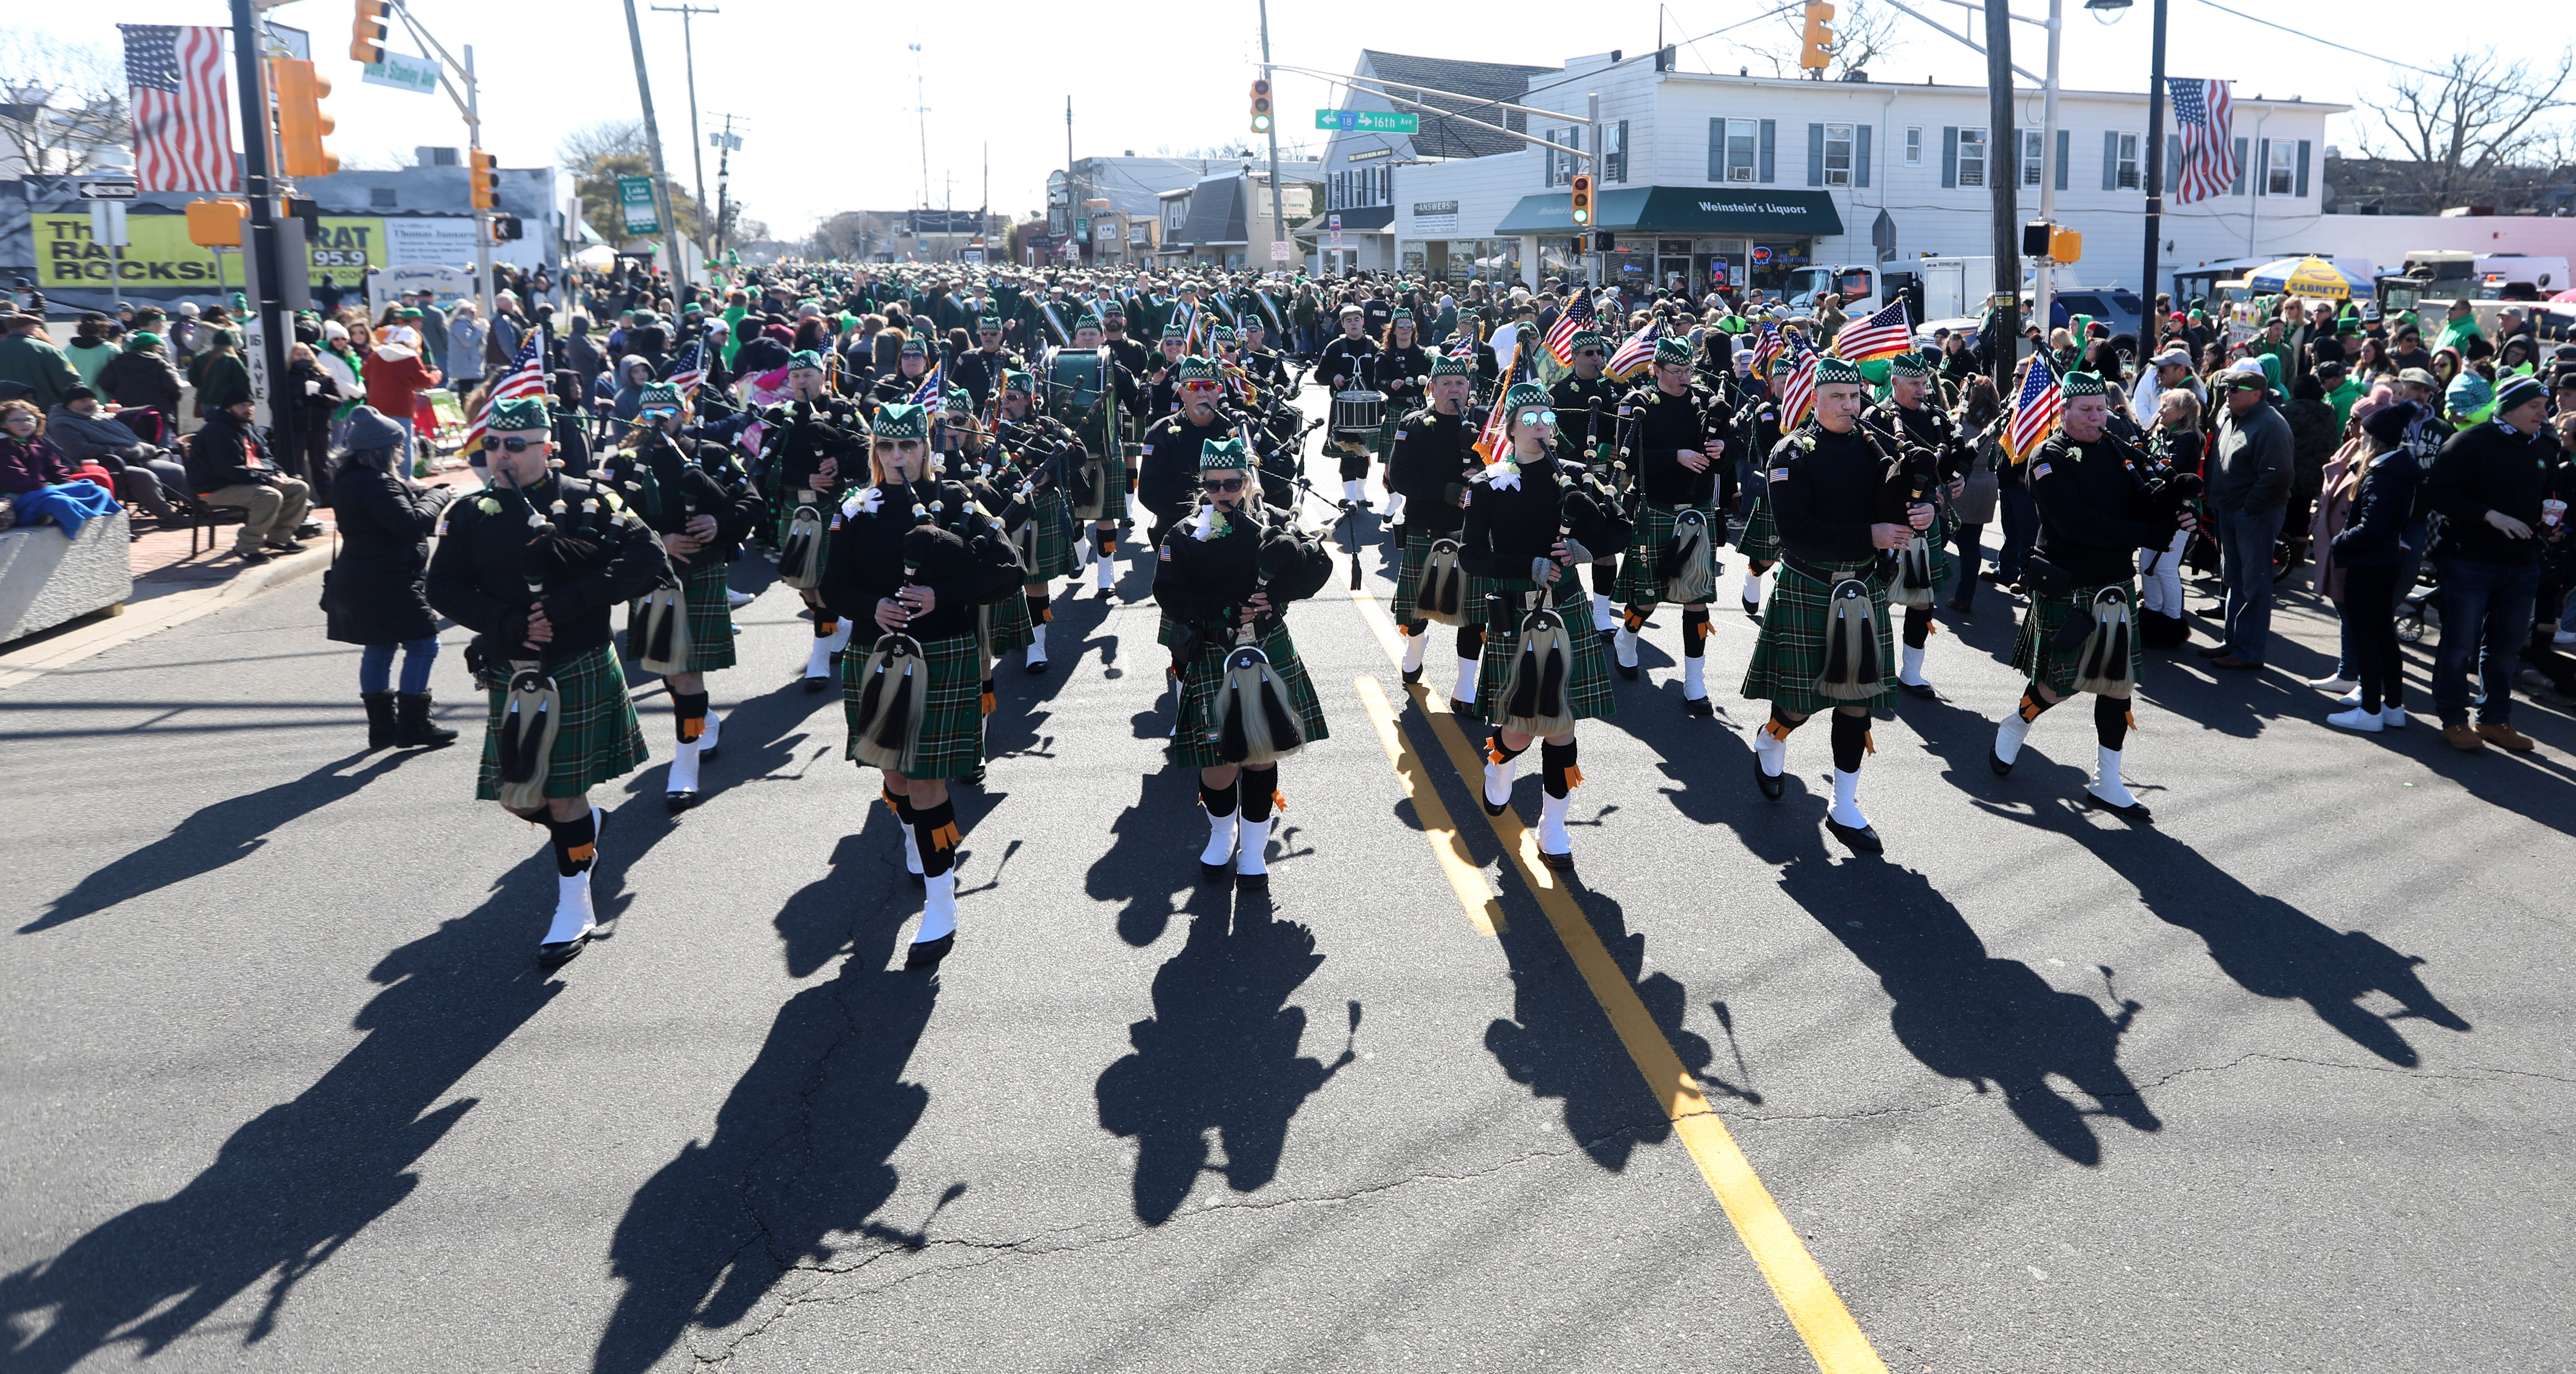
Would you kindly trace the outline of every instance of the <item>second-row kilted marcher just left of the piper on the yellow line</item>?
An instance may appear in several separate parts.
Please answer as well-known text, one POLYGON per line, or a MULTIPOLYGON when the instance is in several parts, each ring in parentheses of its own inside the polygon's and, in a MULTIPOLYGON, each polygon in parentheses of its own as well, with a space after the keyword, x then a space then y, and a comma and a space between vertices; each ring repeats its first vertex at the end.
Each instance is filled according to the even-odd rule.
POLYGON ((1432 616, 1422 611, 1422 580, 1432 567, 1432 549, 1450 544, 1432 593, 1455 603, 1443 611, 1450 616, 1445 624, 1458 626, 1458 678, 1450 686, 1450 711, 1458 717, 1476 714, 1476 665, 1484 657, 1484 606, 1466 598, 1466 570, 1455 552, 1466 485, 1484 467, 1476 431, 1466 423, 1466 397, 1473 389, 1468 371, 1466 358, 1432 358, 1432 402, 1404 418, 1386 456, 1386 485, 1404 498, 1404 557, 1391 608, 1404 632, 1404 681, 1422 678, 1432 626, 1432 616))

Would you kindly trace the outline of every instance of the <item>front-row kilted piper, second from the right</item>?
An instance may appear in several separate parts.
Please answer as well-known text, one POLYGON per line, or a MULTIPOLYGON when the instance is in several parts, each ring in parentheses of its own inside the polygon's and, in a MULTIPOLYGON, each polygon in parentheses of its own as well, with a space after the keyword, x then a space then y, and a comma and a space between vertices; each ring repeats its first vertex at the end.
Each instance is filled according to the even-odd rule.
POLYGON ((1904 464, 1860 423, 1862 376, 1844 358, 1816 361, 1816 405, 1770 454, 1770 516, 1780 531, 1780 585, 1762 608, 1762 637, 1744 668, 1744 696, 1770 701, 1754 727, 1754 786, 1777 802, 1788 784, 1788 735, 1816 711, 1834 714, 1834 804, 1826 830, 1857 853, 1878 853, 1860 812, 1860 758, 1870 709, 1888 701, 1888 549, 1932 526, 1932 505, 1906 505, 1904 464))

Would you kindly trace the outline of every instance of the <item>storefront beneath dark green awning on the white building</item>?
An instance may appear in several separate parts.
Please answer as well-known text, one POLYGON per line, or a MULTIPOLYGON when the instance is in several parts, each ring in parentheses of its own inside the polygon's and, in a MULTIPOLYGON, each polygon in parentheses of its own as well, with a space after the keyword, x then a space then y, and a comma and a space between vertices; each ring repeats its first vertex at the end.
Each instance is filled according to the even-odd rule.
MULTIPOLYGON (((1597 196, 1595 229, 1615 247, 1602 255, 1602 276, 1638 286, 1777 294, 1788 273, 1814 260, 1816 242, 1842 237, 1842 214, 1824 191, 1772 191, 1741 186, 1646 186, 1597 196)), ((1522 196, 1497 235, 1538 235, 1540 271, 1579 276, 1571 237, 1571 196, 1522 196)))

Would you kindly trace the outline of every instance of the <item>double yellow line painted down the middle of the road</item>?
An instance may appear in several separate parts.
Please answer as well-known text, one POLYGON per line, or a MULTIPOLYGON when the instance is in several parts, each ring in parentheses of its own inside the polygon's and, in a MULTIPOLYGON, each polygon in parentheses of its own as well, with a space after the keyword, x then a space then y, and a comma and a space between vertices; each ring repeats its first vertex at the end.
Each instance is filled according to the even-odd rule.
MULTIPOLYGON (((1350 601, 1358 603, 1360 619, 1378 634, 1378 647, 1396 663, 1404 660, 1404 634, 1396 632, 1394 619, 1386 606, 1365 588, 1352 588, 1350 601)), ((1396 755, 1396 768, 1404 771, 1401 727, 1394 719, 1394 709, 1386 693, 1378 688, 1376 678, 1358 678, 1360 699, 1370 709, 1370 724, 1378 727, 1378 740, 1386 745, 1388 755, 1396 755)), ((1484 750, 1471 745, 1466 732, 1458 727, 1458 717, 1448 709, 1448 696, 1437 691, 1425 691, 1419 683, 1412 688, 1414 704, 1432 722, 1432 735, 1440 737, 1440 748, 1448 753, 1450 766, 1468 786, 1484 784, 1484 750)), ((1406 789, 1414 789, 1414 815, 1422 817, 1425 830, 1435 825, 1432 812, 1422 807, 1422 797, 1430 794, 1417 786, 1417 779, 1406 773, 1406 789)), ((1430 794, 1432 804, 1440 804, 1437 794, 1430 794)), ((1448 809, 1437 812, 1437 822, 1448 822, 1448 809)), ((1798 1338, 1806 1340, 1806 1351, 1816 1359, 1816 1369, 1824 1374, 1886 1374, 1886 1361, 1870 1348, 1870 1338, 1860 1333, 1860 1322, 1852 1320, 1850 1307, 1842 1304, 1842 1294, 1834 1292, 1832 1279, 1816 1263, 1816 1255, 1806 1250, 1798 1230, 1780 1212, 1780 1201, 1772 1199, 1770 1188, 1754 1173, 1752 1160, 1736 1147, 1734 1132, 1726 1121, 1708 1106, 1708 1096, 1700 1090, 1700 1080, 1682 1065, 1682 1057, 1664 1039, 1664 1029, 1654 1023, 1646 1003, 1638 1000, 1636 987, 1628 974, 1610 959, 1602 946, 1600 933, 1584 918, 1582 905, 1574 895, 1556 879, 1556 871, 1538 858, 1538 835, 1520 822, 1520 812, 1504 809, 1499 817, 1486 817, 1494 827, 1494 838, 1502 840, 1502 851, 1512 856, 1520 866, 1520 879, 1538 897, 1538 910, 1548 915, 1548 925, 1556 931, 1558 943, 1564 943, 1566 956, 1584 974, 1584 985, 1592 987, 1592 1000, 1600 1003, 1602 1013, 1610 1016, 1610 1029, 1618 1034, 1620 1044, 1628 1049, 1628 1060, 1636 1072, 1646 1078, 1646 1090, 1654 1093, 1656 1106, 1672 1119, 1672 1132, 1690 1150, 1690 1163, 1700 1165, 1700 1178, 1708 1181, 1708 1191, 1718 1196, 1718 1206, 1726 1209, 1726 1219, 1734 1222, 1736 1237, 1744 1240, 1744 1250, 1752 1253, 1754 1266, 1770 1284, 1772 1297, 1780 1310, 1788 1312, 1790 1325, 1798 1328, 1798 1338)), ((1455 846, 1455 833, 1450 835, 1455 846)), ((1476 887, 1461 887, 1458 871, 1450 861, 1466 861, 1463 846, 1453 853, 1443 848, 1440 838, 1432 838, 1432 848, 1443 858, 1443 869, 1450 871, 1450 887, 1458 889, 1458 900, 1468 907, 1468 920, 1479 920, 1481 910, 1492 910, 1492 923, 1502 928, 1502 902, 1484 889, 1484 869, 1473 869, 1476 887), (1473 892, 1473 897, 1468 895, 1473 892)), ((1481 920, 1479 920, 1481 925, 1481 920)))

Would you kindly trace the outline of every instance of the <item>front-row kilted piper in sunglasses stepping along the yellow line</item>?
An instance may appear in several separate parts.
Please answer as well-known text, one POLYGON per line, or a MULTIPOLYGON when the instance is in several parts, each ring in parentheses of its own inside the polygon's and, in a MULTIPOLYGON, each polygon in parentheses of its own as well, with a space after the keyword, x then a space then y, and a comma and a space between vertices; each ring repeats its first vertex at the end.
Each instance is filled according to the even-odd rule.
MULTIPOLYGON (((1466 485, 1466 521, 1458 531, 1458 567, 1466 570, 1466 606, 1484 608, 1484 668, 1476 683, 1476 714, 1504 719, 1504 693, 1512 686, 1512 660, 1520 657, 1520 619, 1533 593, 1564 616, 1569 639, 1566 704, 1574 719, 1600 719, 1618 711, 1610 696, 1610 665, 1602 637, 1592 626, 1592 601, 1582 580, 1566 570, 1592 562, 1592 549, 1618 549, 1628 541, 1628 521, 1607 487, 1584 469, 1558 461, 1556 410, 1548 392, 1520 382, 1502 397, 1510 454, 1466 485)), ((1535 740, 1499 724, 1484 740, 1484 809, 1502 815, 1512 804, 1517 758, 1535 740)), ((1574 869, 1574 840, 1566 835, 1566 804, 1584 781, 1577 768, 1574 732, 1551 735, 1538 750, 1540 791, 1538 853, 1556 871, 1574 869)))

